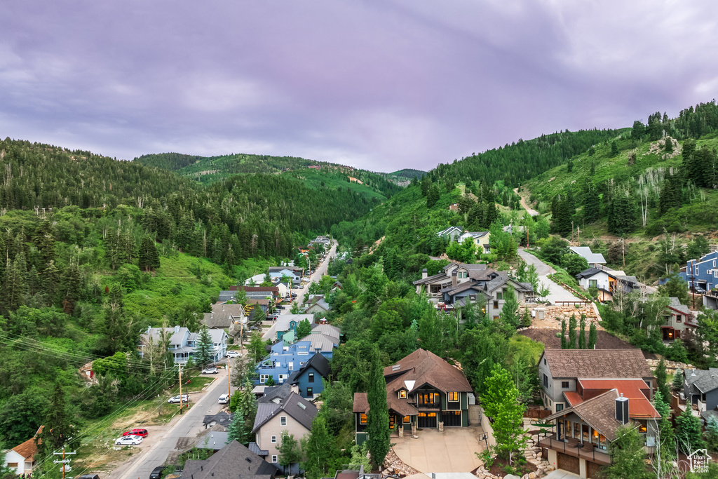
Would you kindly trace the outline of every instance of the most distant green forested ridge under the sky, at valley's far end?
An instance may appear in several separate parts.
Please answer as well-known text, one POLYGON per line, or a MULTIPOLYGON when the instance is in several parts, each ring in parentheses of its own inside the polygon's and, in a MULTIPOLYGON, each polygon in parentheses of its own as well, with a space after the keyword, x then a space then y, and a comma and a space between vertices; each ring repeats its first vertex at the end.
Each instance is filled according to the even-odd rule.
POLYGON ((381 173, 355 169, 342 164, 317 162, 297 157, 273 157, 258 154, 228 154, 218 157, 196 157, 180 153, 146 154, 134 162, 170 169, 198 182, 210 184, 232 175, 251 173, 278 174, 305 181, 307 187, 351 190, 383 200, 401 190, 381 173), (352 182, 350 177, 360 180, 352 182))

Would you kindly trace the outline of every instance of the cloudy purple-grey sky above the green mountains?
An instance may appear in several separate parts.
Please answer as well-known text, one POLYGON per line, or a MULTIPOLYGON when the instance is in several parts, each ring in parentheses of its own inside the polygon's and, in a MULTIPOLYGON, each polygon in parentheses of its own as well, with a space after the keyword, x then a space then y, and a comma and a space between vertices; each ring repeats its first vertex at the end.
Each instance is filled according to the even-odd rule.
POLYGON ((7 0, 0 137, 432 169, 718 90, 714 0, 7 0))

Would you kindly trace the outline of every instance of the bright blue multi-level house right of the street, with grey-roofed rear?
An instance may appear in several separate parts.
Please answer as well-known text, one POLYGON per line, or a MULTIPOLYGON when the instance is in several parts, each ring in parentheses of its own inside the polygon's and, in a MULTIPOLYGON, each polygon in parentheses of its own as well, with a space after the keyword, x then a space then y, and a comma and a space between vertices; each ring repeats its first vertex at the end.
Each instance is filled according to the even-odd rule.
MULTIPOLYGON (((258 375, 258 384, 266 383, 270 377, 274 379, 274 383, 283 384, 289 379, 289 375, 299 371, 316 353, 331 359, 334 348, 339 345, 339 334, 338 327, 317 325, 312 334, 296 343, 284 339, 272 345, 269 355, 254 368, 258 375)), ((292 335, 290 333, 289 337, 292 335)))

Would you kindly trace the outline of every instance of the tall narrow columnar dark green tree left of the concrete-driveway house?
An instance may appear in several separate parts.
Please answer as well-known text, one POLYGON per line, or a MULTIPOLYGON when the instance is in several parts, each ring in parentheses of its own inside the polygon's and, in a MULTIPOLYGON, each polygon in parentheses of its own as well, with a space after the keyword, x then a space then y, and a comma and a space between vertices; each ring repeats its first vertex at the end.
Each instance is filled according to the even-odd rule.
POLYGON ((371 460, 376 465, 384 462, 384 457, 389 452, 389 411, 386 404, 386 381, 384 380, 384 369, 379 359, 379 350, 376 345, 373 348, 373 361, 369 372, 369 389, 366 399, 369 403, 367 414, 366 432, 367 442, 371 460))

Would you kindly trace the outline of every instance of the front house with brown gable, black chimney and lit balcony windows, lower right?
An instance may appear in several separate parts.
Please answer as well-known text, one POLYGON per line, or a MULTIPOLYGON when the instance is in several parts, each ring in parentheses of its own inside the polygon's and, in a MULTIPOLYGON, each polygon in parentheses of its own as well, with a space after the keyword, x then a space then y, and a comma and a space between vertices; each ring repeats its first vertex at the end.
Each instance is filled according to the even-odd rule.
POLYGON ((554 421, 556 429, 538 445, 548 450, 549 463, 581 478, 602 477, 602 468, 612 462, 610 444, 616 440, 617 429, 626 424, 638 429, 651 452, 656 445, 660 414, 639 388, 623 386, 624 390, 633 391, 633 397, 625 396, 618 388, 587 393, 582 400, 577 398, 566 409, 546 417, 544 421, 554 421))

